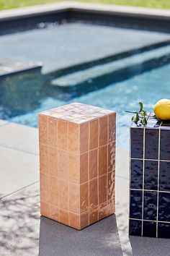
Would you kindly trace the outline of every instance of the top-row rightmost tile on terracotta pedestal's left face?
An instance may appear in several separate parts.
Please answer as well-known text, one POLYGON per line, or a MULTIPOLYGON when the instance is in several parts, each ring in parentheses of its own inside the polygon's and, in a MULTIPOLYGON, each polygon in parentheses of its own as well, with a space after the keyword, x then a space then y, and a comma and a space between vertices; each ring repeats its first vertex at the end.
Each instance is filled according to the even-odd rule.
POLYGON ((79 153, 79 124, 68 122, 68 151, 79 153))

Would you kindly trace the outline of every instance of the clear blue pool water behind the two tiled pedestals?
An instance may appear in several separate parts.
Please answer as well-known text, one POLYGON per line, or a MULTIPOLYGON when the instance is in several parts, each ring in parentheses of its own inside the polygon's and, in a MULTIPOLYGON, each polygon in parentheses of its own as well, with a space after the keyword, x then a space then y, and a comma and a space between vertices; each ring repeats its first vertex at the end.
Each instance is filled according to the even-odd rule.
POLYGON ((44 65, 42 73, 24 72, 0 80, 0 119, 37 127, 40 111, 87 103, 117 112, 117 147, 128 148, 131 115, 125 110, 136 110, 143 101, 152 111, 156 101, 169 98, 169 40, 168 33, 81 23, 47 24, 1 35, 1 58, 44 65), (160 43, 166 44, 153 47, 160 43), (134 50, 133 56, 111 58, 134 50), (105 57, 107 61, 94 66, 95 60, 105 57), (88 61, 80 72, 69 68, 88 61), (67 73, 58 72, 66 67, 67 73))

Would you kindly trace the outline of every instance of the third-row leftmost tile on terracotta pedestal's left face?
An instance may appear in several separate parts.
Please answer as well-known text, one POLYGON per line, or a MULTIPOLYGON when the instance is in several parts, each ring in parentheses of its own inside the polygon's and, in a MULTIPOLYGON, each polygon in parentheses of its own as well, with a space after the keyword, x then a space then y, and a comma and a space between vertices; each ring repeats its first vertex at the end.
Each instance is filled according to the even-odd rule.
POLYGON ((40 174, 40 199, 49 202, 49 180, 47 174, 40 174))

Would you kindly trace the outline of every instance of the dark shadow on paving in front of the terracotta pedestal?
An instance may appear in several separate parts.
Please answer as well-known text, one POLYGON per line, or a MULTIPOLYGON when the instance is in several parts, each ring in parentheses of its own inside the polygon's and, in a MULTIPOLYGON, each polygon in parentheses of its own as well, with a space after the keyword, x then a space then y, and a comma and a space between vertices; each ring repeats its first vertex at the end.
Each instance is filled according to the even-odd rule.
POLYGON ((39 256, 46 255, 122 255, 116 216, 109 216, 81 231, 41 217, 39 256))

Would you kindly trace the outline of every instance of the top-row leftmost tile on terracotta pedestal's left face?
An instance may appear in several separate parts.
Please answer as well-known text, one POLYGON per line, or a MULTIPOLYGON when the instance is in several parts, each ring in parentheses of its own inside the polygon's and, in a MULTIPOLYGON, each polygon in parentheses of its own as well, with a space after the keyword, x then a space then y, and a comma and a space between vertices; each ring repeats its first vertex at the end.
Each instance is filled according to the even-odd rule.
POLYGON ((48 116, 39 115, 39 142, 48 144, 48 116))

